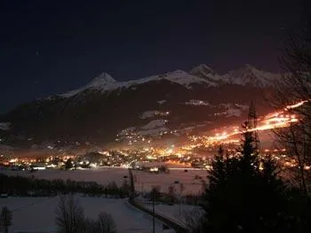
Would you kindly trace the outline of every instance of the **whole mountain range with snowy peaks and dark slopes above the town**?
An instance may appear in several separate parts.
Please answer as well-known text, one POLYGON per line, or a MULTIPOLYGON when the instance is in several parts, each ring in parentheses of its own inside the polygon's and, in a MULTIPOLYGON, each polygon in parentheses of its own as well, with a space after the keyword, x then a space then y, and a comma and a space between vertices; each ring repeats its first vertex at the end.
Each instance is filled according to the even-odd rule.
POLYGON ((128 82, 103 73, 84 87, 37 99, 0 116, 6 144, 155 140, 184 136, 245 119, 254 101, 259 114, 271 107, 281 74, 245 65, 227 74, 209 66, 128 82))

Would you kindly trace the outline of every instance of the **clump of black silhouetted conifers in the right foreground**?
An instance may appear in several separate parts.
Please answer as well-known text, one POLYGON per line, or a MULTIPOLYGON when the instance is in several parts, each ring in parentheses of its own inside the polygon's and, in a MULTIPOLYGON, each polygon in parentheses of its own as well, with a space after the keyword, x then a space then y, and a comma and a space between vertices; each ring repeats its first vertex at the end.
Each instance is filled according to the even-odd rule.
POLYGON ((222 147, 211 164, 204 194, 206 232, 275 232, 284 229, 284 186, 273 159, 262 160, 253 132, 243 123, 242 141, 232 156, 222 147))

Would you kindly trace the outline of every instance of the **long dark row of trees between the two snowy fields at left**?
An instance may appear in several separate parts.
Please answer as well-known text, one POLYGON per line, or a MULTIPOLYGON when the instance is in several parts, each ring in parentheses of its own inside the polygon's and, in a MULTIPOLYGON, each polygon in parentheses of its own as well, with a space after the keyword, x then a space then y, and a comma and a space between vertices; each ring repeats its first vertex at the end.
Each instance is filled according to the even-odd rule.
POLYGON ((95 182, 73 180, 44 180, 22 176, 0 174, 0 193, 10 196, 54 196, 58 194, 84 193, 90 196, 111 195, 124 198, 129 195, 130 186, 124 179, 121 187, 116 183, 100 185, 95 182))

